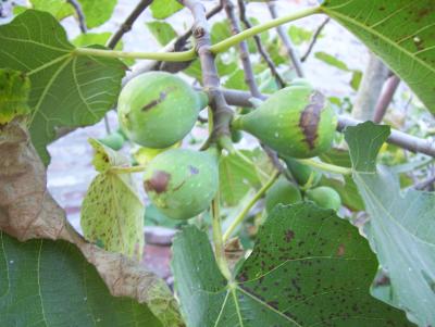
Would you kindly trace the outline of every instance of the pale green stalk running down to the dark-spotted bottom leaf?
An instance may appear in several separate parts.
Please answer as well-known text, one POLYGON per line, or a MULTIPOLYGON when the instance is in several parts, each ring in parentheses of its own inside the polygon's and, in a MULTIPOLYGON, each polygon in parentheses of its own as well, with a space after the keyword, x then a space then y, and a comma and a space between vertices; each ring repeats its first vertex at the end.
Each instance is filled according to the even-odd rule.
POLYGON ((221 213, 220 213, 220 194, 214 197, 211 202, 211 213, 212 213, 212 228, 213 228, 213 244, 214 244, 214 255, 216 257, 216 263, 221 269, 222 275, 227 280, 231 280, 231 271, 228 263, 225 257, 224 240, 222 237, 222 226, 221 226, 221 213))

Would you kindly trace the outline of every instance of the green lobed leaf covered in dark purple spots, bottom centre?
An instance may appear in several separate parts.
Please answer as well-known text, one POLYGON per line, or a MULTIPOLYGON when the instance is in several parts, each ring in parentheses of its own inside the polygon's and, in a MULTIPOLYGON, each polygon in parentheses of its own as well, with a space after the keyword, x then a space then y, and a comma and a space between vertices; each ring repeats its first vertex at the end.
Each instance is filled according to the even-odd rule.
POLYGON ((377 262, 358 229, 310 203, 275 207, 235 281, 195 226, 175 238, 172 268, 192 327, 412 326, 371 297, 377 262))

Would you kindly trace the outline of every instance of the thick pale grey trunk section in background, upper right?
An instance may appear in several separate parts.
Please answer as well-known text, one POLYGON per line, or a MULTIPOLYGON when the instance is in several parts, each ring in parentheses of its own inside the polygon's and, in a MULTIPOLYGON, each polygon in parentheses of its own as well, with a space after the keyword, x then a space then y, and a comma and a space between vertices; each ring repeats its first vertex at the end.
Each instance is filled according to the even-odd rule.
POLYGON ((373 120, 374 108, 380 99, 388 72, 387 66, 375 54, 371 53, 357 99, 355 100, 352 110, 353 118, 360 121, 373 120))

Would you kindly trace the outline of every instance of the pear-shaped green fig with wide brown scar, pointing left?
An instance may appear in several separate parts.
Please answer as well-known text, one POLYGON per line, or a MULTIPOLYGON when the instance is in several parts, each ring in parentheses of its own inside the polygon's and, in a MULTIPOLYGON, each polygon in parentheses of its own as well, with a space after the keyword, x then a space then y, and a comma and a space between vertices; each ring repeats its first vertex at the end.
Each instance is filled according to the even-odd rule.
POLYGON ((284 88, 257 110, 233 121, 281 155, 312 158, 327 151, 334 138, 337 117, 326 98, 306 86, 284 88))

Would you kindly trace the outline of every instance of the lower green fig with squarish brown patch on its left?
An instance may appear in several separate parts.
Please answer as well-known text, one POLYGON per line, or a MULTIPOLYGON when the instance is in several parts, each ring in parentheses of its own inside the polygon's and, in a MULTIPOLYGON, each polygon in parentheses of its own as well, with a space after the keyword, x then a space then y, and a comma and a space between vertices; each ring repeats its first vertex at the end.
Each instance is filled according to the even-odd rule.
POLYGON ((145 172, 144 187, 158 210, 171 218, 188 219, 200 214, 219 188, 215 150, 172 149, 160 153, 145 172))

